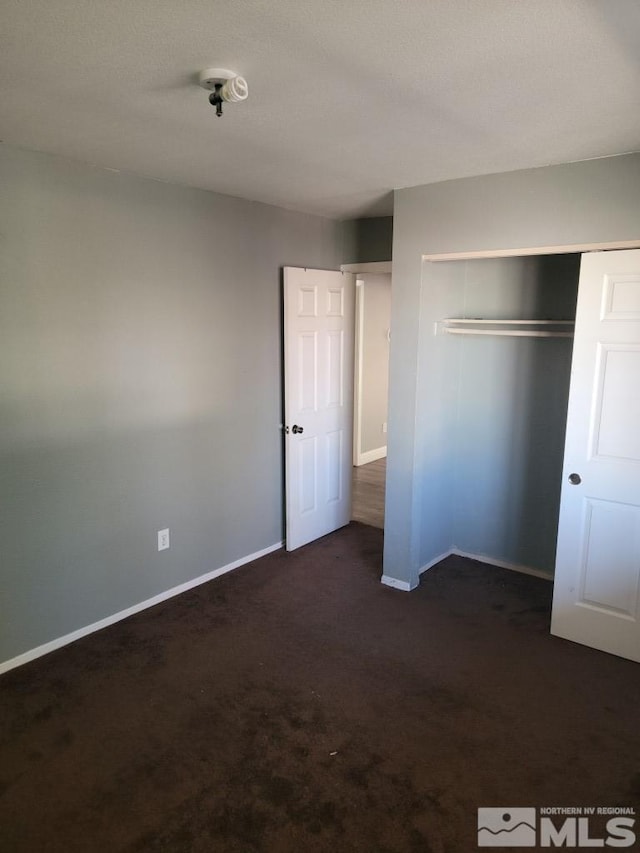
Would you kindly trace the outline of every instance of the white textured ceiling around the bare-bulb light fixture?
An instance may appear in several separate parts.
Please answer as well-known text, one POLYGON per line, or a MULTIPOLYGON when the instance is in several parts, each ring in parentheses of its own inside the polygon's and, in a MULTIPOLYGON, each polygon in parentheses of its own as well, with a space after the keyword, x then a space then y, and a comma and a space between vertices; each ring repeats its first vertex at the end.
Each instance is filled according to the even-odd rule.
POLYGON ((638 0, 2 0, 11 144, 348 218, 640 149, 638 0), (216 118, 197 73, 247 78, 216 118))

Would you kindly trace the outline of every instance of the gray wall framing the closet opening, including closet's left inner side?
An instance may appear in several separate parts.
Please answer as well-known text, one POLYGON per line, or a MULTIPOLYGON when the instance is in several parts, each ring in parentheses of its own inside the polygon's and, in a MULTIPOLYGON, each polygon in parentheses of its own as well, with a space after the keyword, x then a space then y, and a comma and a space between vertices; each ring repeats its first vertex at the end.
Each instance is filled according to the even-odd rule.
POLYGON ((454 536, 442 413, 456 384, 430 312, 454 316, 464 265, 423 276, 422 254, 640 240, 639 198, 638 154, 395 193, 385 575, 415 586, 454 536))

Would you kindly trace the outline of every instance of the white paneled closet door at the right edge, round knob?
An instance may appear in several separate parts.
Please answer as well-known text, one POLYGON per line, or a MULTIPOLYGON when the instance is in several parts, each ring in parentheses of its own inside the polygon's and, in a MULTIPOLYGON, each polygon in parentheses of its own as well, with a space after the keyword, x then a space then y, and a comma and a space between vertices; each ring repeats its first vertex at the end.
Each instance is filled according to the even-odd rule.
POLYGON ((640 250, 582 256, 551 632, 640 661, 640 250))

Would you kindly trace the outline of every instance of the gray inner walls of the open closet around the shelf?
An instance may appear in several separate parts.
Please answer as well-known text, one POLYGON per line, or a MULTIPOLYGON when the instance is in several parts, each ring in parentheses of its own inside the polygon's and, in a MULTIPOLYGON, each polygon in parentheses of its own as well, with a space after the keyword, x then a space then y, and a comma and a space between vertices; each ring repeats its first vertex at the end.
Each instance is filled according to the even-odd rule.
MULTIPOLYGON (((425 261, 423 316, 434 332, 447 317, 572 320, 579 266, 425 261)), ((553 573, 572 343, 438 332, 419 367, 441 402, 419 460, 423 565, 455 548, 553 573)))

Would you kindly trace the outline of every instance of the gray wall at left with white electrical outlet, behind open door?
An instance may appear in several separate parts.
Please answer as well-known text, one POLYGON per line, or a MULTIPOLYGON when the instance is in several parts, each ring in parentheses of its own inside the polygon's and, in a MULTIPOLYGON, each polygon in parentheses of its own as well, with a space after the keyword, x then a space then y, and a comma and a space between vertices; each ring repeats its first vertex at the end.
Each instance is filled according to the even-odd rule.
POLYGON ((6 146, 0 183, 2 661, 282 539, 280 267, 343 233, 6 146))

